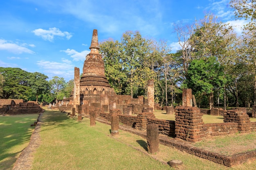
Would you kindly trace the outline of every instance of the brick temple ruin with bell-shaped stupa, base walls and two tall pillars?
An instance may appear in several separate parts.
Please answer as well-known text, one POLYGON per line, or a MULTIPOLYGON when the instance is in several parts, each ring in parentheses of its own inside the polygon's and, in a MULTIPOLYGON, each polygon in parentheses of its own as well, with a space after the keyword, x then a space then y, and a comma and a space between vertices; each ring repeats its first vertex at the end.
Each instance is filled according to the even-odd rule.
POLYGON ((74 91, 69 98, 61 101, 61 110, 81 105, 82 114, 89 115, 95 108, 99 111, 110 112, 111 109, 119 109, 127 115, 144 112, 153 112, 154 106, 154 82, 148 82, 148 99, 143 96, 132 98, 131 95, 117 95, 110 86, 105 76, 105 67, 102 55, 99 53, 98 33, 94 29, 90 53, 85 57, 83 73, 80 78, 79 68, 74 68, 74 91))

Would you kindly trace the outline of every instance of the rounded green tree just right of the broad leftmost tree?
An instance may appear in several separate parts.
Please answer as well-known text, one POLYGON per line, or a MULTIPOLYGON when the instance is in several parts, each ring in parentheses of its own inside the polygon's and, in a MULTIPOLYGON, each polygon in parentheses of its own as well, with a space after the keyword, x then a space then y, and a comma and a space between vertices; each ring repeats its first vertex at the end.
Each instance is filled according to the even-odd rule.
POLYGON ((48 77, 42 73, 31 73, 28 84, 31 88, 33 95, 36 96, 36 102, 38 102, 38 96, 47 93, 49 91, 49 82, 46 80, 48 77))

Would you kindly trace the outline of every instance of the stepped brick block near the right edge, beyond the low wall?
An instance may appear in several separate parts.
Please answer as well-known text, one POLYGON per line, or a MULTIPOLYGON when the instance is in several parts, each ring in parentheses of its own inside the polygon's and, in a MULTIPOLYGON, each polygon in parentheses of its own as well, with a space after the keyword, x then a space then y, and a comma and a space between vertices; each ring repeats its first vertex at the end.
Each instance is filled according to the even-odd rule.
POLYGON ((246 108, 227 110, 227 113, 224 115, 224 122, 238 123, 238 131, 242 133, 251 131, 249 126, 251 121, 246 113, 246 108))

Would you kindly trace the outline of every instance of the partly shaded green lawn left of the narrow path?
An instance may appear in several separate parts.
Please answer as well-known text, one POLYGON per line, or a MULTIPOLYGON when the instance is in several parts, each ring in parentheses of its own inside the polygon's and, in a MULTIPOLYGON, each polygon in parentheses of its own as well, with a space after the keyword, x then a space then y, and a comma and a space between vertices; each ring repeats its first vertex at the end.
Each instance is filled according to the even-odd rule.
POLYGON ((20 152, 29 144, 38 114, 0 116, 0 169, 11 170, 20 152))

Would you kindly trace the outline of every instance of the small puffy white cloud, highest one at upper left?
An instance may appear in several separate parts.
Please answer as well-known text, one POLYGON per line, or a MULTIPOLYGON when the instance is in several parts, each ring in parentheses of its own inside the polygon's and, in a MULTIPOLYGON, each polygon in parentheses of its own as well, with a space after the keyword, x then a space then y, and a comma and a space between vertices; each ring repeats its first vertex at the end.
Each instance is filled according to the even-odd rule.
POLYGON ((54 40, 54 36, 59 36, 59 37, 66 37, 67 40, 69 40, 72 37, 72 34, 64 31, 62 32, 58 28, 49 28, 49 30, 45 29, 35 29, 32 31, 36 36, 42 37, 43 40, 48 40, 52 42, 54 40))

